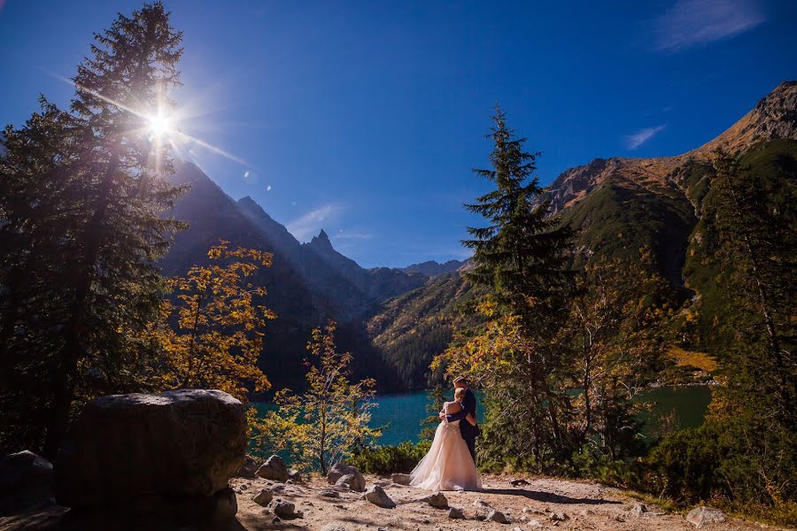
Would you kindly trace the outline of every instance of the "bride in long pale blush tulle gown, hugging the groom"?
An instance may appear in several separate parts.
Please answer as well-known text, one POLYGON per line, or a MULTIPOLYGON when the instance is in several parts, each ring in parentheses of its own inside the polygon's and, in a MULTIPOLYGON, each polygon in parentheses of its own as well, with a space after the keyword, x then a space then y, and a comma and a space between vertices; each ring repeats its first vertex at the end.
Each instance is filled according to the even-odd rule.
MULTIPOLYGON (((443 405, 446 415, 462 411, 465 389, 457 389, 454 401, 443 405)), ((460 422, 476 426, 471 414, 465 420, 449 422, 443 419, 435 432, 429 452, 410 474, 410 485, 425 490, 481 490, 482 478, 462 439, 460 422)))

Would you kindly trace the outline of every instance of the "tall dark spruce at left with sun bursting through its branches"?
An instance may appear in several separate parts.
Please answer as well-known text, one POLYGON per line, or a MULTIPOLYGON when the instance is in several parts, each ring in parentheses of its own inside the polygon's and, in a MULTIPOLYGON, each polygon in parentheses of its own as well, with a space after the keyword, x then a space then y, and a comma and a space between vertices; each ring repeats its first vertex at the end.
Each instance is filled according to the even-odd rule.
MULTIPOLYGON (((154 262, 166 252, 169 234, 180 227, 160 217, 180 190, 163 180, 172 172, 167 145, 149 135, 147 126, 148 117, 166 114, 172 105, 167 90, 179 83, 175 65, 182 55, 182 34, 169 25, 169 13, 158 2, 144 4, 130 17, 119 14, 95 40, 73 79, 68 139, 38 139, 42 146, 66 142, 73 149, 39 156, 32 150, 44 147, 4 142, 4 161, 19 161, 4 162, 4 172, 31 181, 27 189, 17 187, 19 196, 13 200, 2 198, 12 227, 4 232, 13 234, 20 249, 32 250, 31 257, 57 265, 49 271, 42 266, 41 281, 49 289, 45 296, 52 297, 44 314, 35 300, 22 300, 35 292, 27 286, 35 277, 3 273, 4 289, 21 294, 13 315, 0 318, 0 329, 15 338, 4 344, 3 356, 15 352, 14 359, 20 360, 12 363, 12 387, 4 393, 41 396, 47 414, 40 436, 50 458, 57 455, 76 399, 137 386, 139 350, 130 331, 143 328, 157 312, 162 281, 154 262), (36 165, 53 170, 42 173, 36 165), (80 196, 75 196, 77 189, 58 189, 59 178, 80 182, 80 196), (45 189, 54 194, 46 200, 41 195, 45 189), (30 208, 43 201, 52 204, 50 215, 68 216, 71 222, 59 225, 30 208), (52 231, 50 248, 43 248, 40 228, 52 231), (46 367, 46 387, 13 385, 14 374, 30 373, 36 361, 46 367)), ((40 132, 49 136, 58 126, 34 130, 28 124, 20 135, 40 132)), ((9 131, 8 140, 14 135, 9 131)))

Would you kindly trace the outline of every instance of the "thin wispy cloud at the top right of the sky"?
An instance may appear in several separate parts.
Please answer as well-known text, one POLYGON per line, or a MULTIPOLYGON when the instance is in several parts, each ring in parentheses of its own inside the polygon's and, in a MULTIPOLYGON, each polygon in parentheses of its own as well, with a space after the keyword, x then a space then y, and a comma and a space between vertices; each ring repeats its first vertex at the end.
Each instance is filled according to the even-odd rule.
POLYGON ((654 49, 676 52, 721 41, 763 23, 753 0, 678 0, 654 23, 654 49))

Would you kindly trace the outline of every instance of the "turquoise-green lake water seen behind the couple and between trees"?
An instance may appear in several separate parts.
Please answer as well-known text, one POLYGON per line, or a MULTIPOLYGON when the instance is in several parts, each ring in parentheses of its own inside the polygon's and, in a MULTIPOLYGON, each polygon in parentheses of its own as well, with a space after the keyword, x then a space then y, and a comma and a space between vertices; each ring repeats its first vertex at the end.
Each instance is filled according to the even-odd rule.
MULTIPOLYGON (((477 399, 480 396, 476 395, 477 399)), ((680 427, 697 427, 703 421, 711 389, 705 386, 662 387, 651 389, 637 397, 638 401, 651 404, 650 412, 644 419, 648 421, 643 429, 644 435, 651 435, 661 419, 674 412, 680 427)), ((399 444, 405 441, 418 442, 421 421, 429 416, 428 391, 381 395, 376 398, 378 407, 372 412, 372 427, 383 427, 380 444, 399 444)), ((479 404, 479 421, 484 421, 484 406, 479 404)))

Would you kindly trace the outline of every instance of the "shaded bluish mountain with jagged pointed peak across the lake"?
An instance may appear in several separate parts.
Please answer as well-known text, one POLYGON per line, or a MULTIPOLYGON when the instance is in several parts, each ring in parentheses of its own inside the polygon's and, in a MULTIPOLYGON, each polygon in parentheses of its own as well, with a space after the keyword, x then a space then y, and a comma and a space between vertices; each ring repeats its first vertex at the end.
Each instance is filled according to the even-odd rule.
POLYGON ((260 360, 276 388, 301 383, 311 330, 336 319, 339 347, 357 353, 355 374, 377 376, 383 389, 393 389, 395 369, 372 348, 363 319, 384 299, 422 286, 427 275, 360 267, 337 252, 323 230, 311 242, 300 243, 251 197, 233 200, 189 162, 175 164, 172 181, 190 184, 170 212, 189 228, 175 236, 160 262, 164 274, 182 274, 206 263, 207 250, 220 240, 274 254, 272 266, 260 269, 253 281, 267 289, 262 304, 277 314, 267 323, 260 360))

